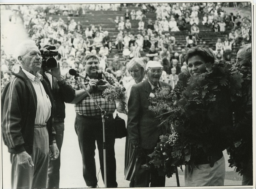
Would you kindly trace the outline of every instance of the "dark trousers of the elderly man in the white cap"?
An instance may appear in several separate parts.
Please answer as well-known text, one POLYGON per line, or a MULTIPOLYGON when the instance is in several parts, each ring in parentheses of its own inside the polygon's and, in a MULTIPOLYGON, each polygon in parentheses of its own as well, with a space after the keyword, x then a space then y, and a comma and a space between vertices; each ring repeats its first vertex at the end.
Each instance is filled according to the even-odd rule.
POLYGON ((142 165, 149 163, 149 156, 154 151, 152 149, 143 149, 137 147, 137 162, 135 165, 135 183, 134 187, 164 187, 165 176, 159 176, 157 169, 151 164, 150 169, 141 168, 142 165))

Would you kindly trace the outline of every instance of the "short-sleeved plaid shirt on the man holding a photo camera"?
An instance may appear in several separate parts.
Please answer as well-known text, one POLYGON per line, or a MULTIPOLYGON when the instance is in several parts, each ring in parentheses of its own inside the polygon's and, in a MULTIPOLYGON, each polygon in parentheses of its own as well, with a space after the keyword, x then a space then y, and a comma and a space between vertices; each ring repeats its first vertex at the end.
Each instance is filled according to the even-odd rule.
MULTIPOLYGON (((110 85, 113 85, 113 86, 119 85, 118 81, 116 80, 116 78, 114 78, 114 76, 112 74, 105 72, 105 71, 103 73, 106 76, 105 77, 103 75, 103 79, 107 80, 110 83, 110 85)), ((82 72, 81 75, 86 75, 86 78, 82 79, 82 78, 78 77, 78 80, 82 83, 83 86, 87 87, 90 78, 88 77, 88 75, 86 74, 85 71, 82 72)), ((82 86, 80 86, 74 78, 70 79, 69 84, 74 88, 74 90, 83 89, 82 86)), ((94 97, 96 99, 96 102, 98 102, 99 106, 104 111, 107 112, 107 114, 114 113, 114 111, 116 109, 115 102, 110 102, 110 101, 106 100, 102 96, 102 91, 96 91, 96 92, 93 91, 93 92, 91 92, 91 95, 92 95, 92 97, 94 97)), ((98 108, 98 106, 93 102, 93 100, 89 96, 86 96, 79 103, 75 104, 75 110, 76 110, 76 113, 78 113, 80 115, 85 115, 85 116, 101 115, 100 109, 98 108)))

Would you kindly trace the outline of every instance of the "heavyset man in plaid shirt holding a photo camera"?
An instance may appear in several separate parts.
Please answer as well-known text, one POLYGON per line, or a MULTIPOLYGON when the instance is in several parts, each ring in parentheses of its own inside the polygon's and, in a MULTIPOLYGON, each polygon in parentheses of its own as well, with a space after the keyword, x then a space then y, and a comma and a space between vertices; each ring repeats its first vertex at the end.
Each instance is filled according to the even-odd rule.
MULTIPOLYGON (((117 86, 119 83, 112 74, 103 72, 104 85, 97 85, 96 73, 99 70, 99 59, 96 55, 86 55, 82 63, 85 71, 81 75, 85 76, 85 79, 78 78, 78 80, 86 87, 93 98, 95 98, 99 106, 107 112, 108 119, 105 119, 107 187, 115 188, 117 187, 117 182, 113 113, 116 105, 104 99, 102 91, 108 86, 117 86)), ((104 180, 102 113, 74 78, 70 79, 69 84, 76 90, 76 97, 71 103, 75 104, 77 113, 75 130, 83 159, 83 176, 89 188, 96 188, 95 141, 98 146, 101 174, 104 180)))

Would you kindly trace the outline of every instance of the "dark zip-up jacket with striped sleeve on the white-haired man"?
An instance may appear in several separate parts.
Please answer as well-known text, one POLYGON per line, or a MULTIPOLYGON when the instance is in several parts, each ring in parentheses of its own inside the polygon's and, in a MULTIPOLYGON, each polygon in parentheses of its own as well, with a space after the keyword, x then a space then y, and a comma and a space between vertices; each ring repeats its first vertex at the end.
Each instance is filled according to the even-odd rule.
MULTIPOLYGON (((5 86, 1 96, 4 144, 8 146, 10 153, 26 151, 31 154, 37 113, 36 91, 21 69, 19 73, 12 74, 15 77, 5 86)), ((41 82, 52 104, 51 116, 46 122, 50 142, 54 140, 56 134, 52 127, 54 104, 45 80, 43 79, 41 82)))

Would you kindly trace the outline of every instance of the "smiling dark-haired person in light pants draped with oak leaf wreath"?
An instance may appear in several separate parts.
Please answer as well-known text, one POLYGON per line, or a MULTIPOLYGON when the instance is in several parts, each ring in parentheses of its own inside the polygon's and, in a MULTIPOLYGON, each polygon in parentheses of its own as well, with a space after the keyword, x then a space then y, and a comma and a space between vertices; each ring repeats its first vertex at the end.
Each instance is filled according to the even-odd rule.
MULTIPOLYGON (((204 47, 192 47, 187 51, 185 61, 190 77, 194 77, 207 71, 206 63, 213 64, 214 55, 204 47)), ((186 88, 188 87, 190 86, 186 88)), ((224 185, 225 159, 222 151, 231 141, 229 132, 233 126, 231 99, 227 87, 222 86, 221 90, 215 93, 215 98, 211 105, 204 105, 203 109, 207 111, 191 116, 183 131, 188 140, 197 136, 202 144, 202 148, 198 148, 196 153, 191 151, 193 161, 189 161, 185 167, 186 186, 224 185), (199 117, 202 119, 199 120, 199 117)), ((193 107, 191 108, 193 110, 193 107)))

